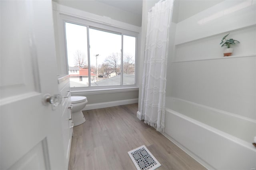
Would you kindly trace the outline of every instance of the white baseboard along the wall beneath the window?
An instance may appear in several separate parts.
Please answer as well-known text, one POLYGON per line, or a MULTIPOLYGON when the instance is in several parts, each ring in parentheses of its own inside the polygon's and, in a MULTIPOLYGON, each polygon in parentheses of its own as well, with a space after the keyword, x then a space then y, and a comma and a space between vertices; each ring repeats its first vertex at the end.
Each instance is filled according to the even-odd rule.
POLYGON ((84 109, 82 109, 82 111, 88 111, 92 109, 101 109, 101 108, 120 106, 120 105, 128 105, 132 103, 138 103, 138 99, 127 99, 127 100, 88 104, 84 109))

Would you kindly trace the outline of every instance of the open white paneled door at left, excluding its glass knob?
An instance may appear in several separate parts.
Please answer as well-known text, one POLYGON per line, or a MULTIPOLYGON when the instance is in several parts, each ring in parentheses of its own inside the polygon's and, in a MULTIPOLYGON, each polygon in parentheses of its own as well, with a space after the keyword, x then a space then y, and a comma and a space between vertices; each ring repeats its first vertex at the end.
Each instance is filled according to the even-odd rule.
POLYGON ((0 169, 64 168, 52 2, 0 1, 0 169))

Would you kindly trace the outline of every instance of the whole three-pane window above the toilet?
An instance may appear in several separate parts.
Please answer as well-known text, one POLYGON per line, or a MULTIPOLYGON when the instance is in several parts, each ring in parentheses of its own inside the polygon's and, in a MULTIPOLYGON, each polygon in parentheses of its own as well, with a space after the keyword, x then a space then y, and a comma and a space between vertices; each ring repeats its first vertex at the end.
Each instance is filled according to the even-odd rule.
POLYGON ((70 22, 65 33, 68 68, 77 73, 69 71, 70 87, 136 84, 136 35, 70 22))

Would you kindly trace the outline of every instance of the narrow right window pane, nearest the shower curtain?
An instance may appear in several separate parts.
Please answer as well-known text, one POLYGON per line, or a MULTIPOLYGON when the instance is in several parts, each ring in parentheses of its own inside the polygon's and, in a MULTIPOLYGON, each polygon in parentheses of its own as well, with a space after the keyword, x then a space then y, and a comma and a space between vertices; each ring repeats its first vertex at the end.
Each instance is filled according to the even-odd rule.
POLYGON ((131 36, 123 36, 123 84, 135 84, 135 53, 136 38, 131 36))

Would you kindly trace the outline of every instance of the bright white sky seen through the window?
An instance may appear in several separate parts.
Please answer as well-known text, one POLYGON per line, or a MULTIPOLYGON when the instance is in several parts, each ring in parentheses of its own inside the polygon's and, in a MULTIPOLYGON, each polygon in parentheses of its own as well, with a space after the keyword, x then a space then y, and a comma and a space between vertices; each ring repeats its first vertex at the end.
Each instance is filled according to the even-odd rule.
MULTIPOLYGON (((119 34, 89 28, 89 38, 91 65, 96 66, 96 54, 98 54, 98 65, 101 65, 105 58, 112 53, 121 53, 122 36, 119 34)), ((73 57, 77 50, 85 54, 88 63, 86 26, 66 22, 66 42, 69 66, 74 66, 75 61, 73 57)), ((124 53, 128 53, 134 57, 135 46, 135 37, 124 36, 124 53)), ((133 59, 135 60, 135 57, 133 59)))

